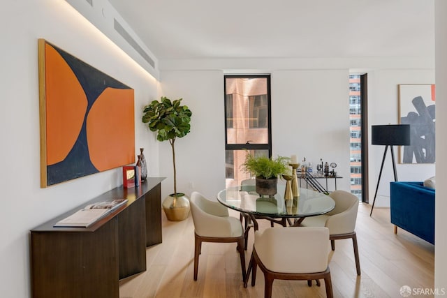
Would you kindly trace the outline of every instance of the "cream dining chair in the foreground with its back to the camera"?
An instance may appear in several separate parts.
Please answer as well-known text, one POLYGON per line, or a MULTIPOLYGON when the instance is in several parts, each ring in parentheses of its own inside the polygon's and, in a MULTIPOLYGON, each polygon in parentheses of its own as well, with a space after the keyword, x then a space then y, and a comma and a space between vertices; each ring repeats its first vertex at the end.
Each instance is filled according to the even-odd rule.
POLYGON ((325 281, 326 296, 332 297, 332 281, 328 267, 329 230, 311 228, 267 228, 255 232, 253 253, 244 287, 250 271, 251 285, 256 283, 256 267, 264 274, 264 297, 272 297, 274 279, 325 281))

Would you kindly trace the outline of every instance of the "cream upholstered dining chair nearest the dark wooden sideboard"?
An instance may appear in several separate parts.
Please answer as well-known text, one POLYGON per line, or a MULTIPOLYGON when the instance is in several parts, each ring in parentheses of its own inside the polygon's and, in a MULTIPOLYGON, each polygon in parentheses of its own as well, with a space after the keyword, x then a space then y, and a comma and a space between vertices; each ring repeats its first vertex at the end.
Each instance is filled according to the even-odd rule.
POLYGON ((193 191, 189 199, 194 223, 194 281, 197 281, 198 258, 202 242, 236 242, 240 253, 242 280, 245 280, 244 230, 240 221, 228 215, 228 209, 193 191))

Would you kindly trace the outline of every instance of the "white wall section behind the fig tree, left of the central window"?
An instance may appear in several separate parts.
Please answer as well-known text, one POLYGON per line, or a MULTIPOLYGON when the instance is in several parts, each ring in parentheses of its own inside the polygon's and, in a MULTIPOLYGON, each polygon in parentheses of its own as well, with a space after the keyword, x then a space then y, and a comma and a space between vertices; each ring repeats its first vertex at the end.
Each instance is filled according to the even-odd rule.
MULTIPOLYGON (((183 98, 192 112, 191 133, 175 141, 177 192, 199 191, 216 198, 225 188, 223 72, 182 70, 161 73, 161 95, 183 98)), ((174 193, 173 155, 169 142, 160 144, 162 197, 174 193)))

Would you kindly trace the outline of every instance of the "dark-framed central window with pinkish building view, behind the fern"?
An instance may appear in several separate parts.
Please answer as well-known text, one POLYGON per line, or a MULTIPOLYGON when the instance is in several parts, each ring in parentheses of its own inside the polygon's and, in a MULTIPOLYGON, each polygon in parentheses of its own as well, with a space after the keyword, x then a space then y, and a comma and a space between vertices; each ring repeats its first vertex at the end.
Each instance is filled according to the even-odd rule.
POLYGON ((247 151, 271 156, 270 75, 225 75, 226 186, 251 178, 240 169, 247 151))

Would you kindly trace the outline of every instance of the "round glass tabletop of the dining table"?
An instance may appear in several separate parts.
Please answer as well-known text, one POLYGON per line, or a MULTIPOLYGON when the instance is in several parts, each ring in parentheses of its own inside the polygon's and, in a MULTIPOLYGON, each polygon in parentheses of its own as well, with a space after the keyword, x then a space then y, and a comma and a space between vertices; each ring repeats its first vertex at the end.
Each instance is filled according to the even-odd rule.
POLYGON ((260 196, 256 191, 241 191, 232 186, 219 191, 217 200, 230 209, 272 218, 298 218, 328 213, 335 207, 330 196, 312 189, 299 188, 300 196, 284 200, 285 185, 278 184, 274 196, 260 196))

